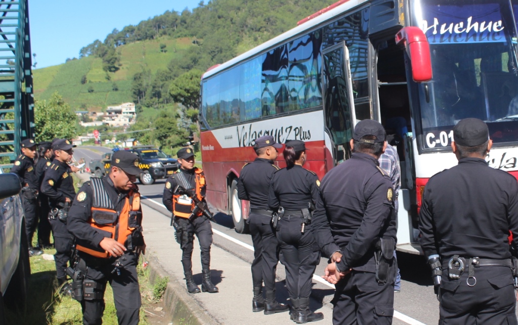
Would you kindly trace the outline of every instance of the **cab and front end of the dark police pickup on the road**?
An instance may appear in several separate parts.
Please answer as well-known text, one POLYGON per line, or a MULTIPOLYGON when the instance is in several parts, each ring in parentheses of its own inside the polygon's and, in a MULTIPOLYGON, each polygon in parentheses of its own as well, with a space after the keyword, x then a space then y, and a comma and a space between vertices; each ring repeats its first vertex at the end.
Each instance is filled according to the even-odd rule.
POLYGON ((150 185, 155 180, 165 179, 178 170, 175 158, 166 155, 151 145, 137 145, 130 149, 140 159, 140 169, 144 172, 138 176, 140 183, 150 185))

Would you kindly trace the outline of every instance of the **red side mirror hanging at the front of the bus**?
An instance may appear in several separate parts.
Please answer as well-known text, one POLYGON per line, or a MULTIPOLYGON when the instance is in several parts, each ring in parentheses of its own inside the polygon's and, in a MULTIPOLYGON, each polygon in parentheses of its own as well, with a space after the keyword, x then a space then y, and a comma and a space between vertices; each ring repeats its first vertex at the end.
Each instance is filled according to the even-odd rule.
POLYGON ((415 82, 430 81, 432 77, 430 45, 421 28, 415 26, 401 28, 396 34, 396 44, 405 46, 412 65, 412 79, 415 82))

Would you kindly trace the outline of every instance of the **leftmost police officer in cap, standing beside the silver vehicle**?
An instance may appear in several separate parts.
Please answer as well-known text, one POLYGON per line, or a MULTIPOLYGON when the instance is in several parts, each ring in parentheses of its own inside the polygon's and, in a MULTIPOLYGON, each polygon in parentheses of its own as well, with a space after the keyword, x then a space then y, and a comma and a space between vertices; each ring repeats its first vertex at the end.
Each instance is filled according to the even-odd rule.
POLYGON ((22 154, 15 160, 11 173, 15 173, 22 183, 23 210, 25 211, 25 234, 29 247, 29 256, 43 254, 43 251, 32 246, 32 238, 38 226, 38 194, 39 186, 34 165, 36 145, 33 139, 25 139, 21 143, 22 154))

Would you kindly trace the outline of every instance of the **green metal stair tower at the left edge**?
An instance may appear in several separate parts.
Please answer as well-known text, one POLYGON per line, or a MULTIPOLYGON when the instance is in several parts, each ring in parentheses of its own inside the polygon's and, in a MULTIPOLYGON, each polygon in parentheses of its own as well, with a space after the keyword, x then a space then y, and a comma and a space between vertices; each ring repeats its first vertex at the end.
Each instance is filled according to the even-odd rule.
POLYGON ((20 141, 34 138, 28 0, 0 0, 0 163, 10 168, 20 141))

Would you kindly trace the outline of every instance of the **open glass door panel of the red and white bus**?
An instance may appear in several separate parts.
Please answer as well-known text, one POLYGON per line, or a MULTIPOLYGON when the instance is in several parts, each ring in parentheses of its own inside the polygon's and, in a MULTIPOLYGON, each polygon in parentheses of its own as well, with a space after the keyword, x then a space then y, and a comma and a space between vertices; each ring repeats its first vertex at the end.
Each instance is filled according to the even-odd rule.
POLYGON ((349 141, 356 125, 349 50, 345 42, 322 51, 322 91, 324 98, 326 161, 330 169, 351 156, 349 141), (331 153, 332 157, 327 157, 331 153))

